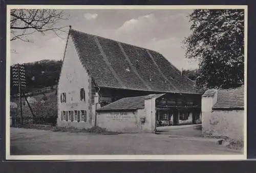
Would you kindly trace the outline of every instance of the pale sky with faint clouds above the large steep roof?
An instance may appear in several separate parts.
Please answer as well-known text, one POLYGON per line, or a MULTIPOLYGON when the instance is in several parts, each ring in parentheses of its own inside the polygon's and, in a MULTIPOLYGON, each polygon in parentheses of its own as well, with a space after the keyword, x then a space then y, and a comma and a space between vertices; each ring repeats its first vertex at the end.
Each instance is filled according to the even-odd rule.
MULTIPOLYGON (((192 10, 65 10, 68 20, 57 26, 148 48, 162 54, 179 69, 195 69, 198 63, 185 58, 181 42, 189 35, 192 10)), ((31 42, 11 41, 11 64, 63 59, 67 33, 34 33, 31 42)))

